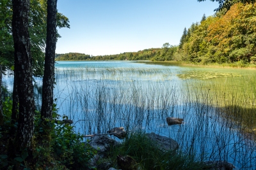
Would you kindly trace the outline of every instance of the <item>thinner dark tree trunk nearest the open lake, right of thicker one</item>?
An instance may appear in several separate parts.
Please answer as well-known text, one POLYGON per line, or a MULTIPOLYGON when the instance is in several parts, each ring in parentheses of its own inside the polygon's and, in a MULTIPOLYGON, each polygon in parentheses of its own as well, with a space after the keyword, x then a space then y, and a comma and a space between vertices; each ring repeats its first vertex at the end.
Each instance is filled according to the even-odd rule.
POLYGON ((42 91, 41 118, 52 119, 54 58, 56 49, 56 13, 57 0, 47 1, 47 36, 42 91))

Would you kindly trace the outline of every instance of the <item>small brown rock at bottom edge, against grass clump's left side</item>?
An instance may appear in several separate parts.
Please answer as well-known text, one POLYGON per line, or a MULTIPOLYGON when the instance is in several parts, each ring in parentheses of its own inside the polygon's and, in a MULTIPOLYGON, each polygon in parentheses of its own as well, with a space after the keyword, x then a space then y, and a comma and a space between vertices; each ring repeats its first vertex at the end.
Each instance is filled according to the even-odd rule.
POLYGON ((117 165, 122 170, 137 170, 138 163, 129 155, 121 156, 117 155, 117 165))

